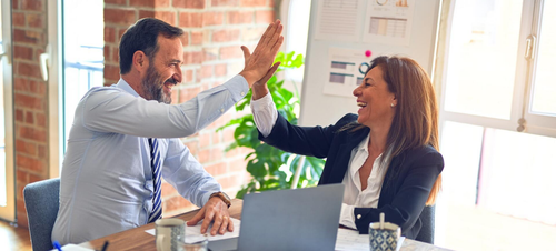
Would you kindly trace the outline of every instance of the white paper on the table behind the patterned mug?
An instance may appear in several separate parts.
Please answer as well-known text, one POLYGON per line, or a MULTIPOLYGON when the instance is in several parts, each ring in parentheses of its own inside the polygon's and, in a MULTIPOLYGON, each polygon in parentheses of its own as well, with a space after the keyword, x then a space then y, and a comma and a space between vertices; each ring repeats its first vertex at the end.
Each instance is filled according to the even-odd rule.
MULTIPOLYGON (((399 238, 396 251, 399 250, 405 239, 405 237, 399 238)), ((335 250, 368 251, 369 234, 359 234, 358 231, 350 229, 338 229, 335 250)))

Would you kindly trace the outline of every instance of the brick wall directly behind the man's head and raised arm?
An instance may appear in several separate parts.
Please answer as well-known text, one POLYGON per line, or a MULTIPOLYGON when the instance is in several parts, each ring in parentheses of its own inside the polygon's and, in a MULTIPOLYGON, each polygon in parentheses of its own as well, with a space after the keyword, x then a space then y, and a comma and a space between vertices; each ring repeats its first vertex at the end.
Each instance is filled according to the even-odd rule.
MULTIPOLYGON (((105 0, 105 84, 119 79, 118 42, 126 29, 140 18, 155 17, 185 30, 183 82, 172 100, 183 102, 200 91, 221 84, 244 66, 240 46, 255 48, 275 19, 274 0, 105 0)), ((234 130, 216 132, 239 114, 231 109, 199 133, 182 139, 206 170, 234 197, 248 179, 247 151, 224 149, 234 141, 234 130)), ((163 214, 193 208, 168 183, 162 184, 163 214)))

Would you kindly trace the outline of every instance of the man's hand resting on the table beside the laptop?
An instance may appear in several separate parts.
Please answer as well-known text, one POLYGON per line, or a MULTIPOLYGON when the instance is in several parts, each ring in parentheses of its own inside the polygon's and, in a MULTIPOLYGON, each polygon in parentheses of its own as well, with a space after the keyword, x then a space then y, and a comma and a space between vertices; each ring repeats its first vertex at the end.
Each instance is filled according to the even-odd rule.
POLYGON ((210 230, 211 235, 216 235, 217 233, 224 234, 226 233, 226 229, 230 232, 234 231, 234 223, 230 220, 228 205, 218 197, 210 198, 205 207, 187 222, 187 225, 196 225, 200 220, 203 220, 201 233, 207 232, 212 221, 212 229, 210 230))

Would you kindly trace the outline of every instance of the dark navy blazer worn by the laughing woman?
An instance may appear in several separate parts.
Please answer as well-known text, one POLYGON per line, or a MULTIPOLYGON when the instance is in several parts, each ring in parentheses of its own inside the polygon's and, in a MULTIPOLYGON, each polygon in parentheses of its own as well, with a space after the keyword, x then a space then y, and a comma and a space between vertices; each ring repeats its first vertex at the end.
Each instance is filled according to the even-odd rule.
MULTIPOLYGON (((346 114, 336 124, 326 128, 297 127, 278 113, 270 134, 265 138, 259 132, 259 139, 282 151, 327 158, 319 184, 341 183, 351 150, 370 130, 338 131, 354 121, 357 121, 356 114, 346 114)), ((443 155, 433 147, 407 150, 393 158, 383 182, 378 208, 354 210, 359 232, 368 233, 369 223, 379 221, 379 214, 384 212, 387 222, 401 227, 403 235, 415 239, 421 228, 419 215, 443 169, 443 155)))

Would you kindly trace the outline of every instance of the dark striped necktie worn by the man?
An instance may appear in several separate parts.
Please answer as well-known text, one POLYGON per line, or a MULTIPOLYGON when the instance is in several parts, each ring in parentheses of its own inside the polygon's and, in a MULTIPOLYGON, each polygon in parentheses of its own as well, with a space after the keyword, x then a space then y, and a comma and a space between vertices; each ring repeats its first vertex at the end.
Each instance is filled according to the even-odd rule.
POLYGON ((158 151, 157 139, 149 138, 150 165, 152 168, 152 183, 155 184, 155 195, 152 197, 152 211, 149 215, 149 223, 162 218, 162 200, 160 198, 160 152, 158 151))

